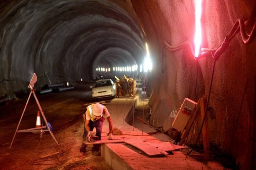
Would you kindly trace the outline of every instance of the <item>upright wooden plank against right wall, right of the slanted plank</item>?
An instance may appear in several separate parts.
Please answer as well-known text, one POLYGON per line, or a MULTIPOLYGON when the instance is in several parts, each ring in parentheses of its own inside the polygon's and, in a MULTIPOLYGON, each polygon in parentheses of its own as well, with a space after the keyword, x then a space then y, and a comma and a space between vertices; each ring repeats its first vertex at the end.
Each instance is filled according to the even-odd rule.
MULTIPOLYGON (((206 99, 202 97, 201 101, 200 101, 202 123, 203 123, 203 118, 205 116, 205 111, 206 111, 205 103, 206 103, 206 99)), ((206 160, 208 160, 209 159, 210 143, 209 143, 209 132, 208 132, 207 117, 204 120, 204 125, 203 125, 203 129, 202 129, 202 137, 203 137, 203 147, 204 147, 204 150, 206 151, 206 152, 204 152, 204 158, 206 160)))

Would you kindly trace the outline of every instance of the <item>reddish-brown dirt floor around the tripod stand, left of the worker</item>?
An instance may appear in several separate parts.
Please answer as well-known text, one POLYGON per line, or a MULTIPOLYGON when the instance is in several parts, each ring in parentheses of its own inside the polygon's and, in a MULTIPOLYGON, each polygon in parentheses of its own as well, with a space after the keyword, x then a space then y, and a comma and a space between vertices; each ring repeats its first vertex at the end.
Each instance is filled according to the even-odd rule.
MULTIPOLYGON (((82 114, 86 111, 83 105, 92 102, 90 85, 79 83, 73 91, 37 95, 59 146, 48 132, 41 140, 39 133, 27 132, 17 133, 9 149, 28 94, 0 106, 0 169, 111 169, 102 157, 92 156, 90 149, 85 155, 79 152, 82 114), (40 158, 56 152, 59 153, 40 158)), ((35 127, 38 110, 34 97, 31 97, 18 130, 35 127)))

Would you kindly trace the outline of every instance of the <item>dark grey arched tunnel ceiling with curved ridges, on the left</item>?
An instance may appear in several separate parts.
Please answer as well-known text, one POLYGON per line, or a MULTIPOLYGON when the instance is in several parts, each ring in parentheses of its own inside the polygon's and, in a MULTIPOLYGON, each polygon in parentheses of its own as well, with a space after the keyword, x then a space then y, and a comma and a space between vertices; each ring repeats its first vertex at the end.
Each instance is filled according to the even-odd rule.
POLYGON ((108 0, 2 3, 0 93, 18 90, 33 72, 39 83, 46 75, 75 81, 90 79, 100 62, 141 63, 144 35, 127 11, 108 0))

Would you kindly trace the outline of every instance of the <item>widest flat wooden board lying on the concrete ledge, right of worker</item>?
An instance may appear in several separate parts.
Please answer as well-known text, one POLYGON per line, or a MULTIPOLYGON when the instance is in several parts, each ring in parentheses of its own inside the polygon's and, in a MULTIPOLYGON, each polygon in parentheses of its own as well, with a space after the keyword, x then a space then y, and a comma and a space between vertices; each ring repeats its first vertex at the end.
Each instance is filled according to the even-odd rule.
POLYGON ((158 149, 154 147, 153 144, 143 141, 142 139, 127 139, 125 143, 142 150, 149 157, 169 155, 164 150, 158 149))

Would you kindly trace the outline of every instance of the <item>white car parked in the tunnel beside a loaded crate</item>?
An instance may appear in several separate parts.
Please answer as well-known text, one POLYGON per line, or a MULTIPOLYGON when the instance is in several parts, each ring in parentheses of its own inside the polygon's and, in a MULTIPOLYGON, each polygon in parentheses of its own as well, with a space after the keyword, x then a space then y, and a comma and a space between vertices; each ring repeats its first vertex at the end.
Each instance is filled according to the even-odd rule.
POLYGON ((112 79, 97 80, 90 88, 93 99, 116 96, 116 84, 112 79))

